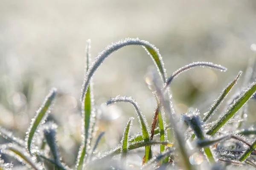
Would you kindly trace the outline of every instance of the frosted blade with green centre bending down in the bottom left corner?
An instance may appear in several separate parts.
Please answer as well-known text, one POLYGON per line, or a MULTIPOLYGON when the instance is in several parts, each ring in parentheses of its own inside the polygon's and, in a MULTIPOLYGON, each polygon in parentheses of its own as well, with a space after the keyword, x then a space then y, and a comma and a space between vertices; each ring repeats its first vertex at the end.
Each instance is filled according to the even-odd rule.
POLYGON ((19 147, 16 144, 3 144, 1 145, 1 152, 14 157, 17 161, 32 167, 34 170, 42 170, 43 165, 35 162, 35 156, 31 156, 25 148, 19 147))

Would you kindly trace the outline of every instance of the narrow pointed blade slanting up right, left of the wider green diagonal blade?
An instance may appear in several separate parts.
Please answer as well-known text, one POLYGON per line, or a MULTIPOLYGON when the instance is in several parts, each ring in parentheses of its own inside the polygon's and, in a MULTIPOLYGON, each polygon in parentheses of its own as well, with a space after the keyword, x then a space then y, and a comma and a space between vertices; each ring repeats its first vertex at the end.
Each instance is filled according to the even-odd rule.
POLYGON ((221 94, 218 96, 218 98, 215 100, 215 102, 213 103, 213 105, 211 106, 211 108, 209 109, 209 111, 207 112, 207 114, 204 116, 203 122, 207 122, 207 120, 209 120, 209 118, 214 114, 214 112, 216 111, 216 109, 218 109, 218 107, 221 105, 221 103, 223 102, 223 100, 227 97, 227 94, 229 94, 229 92, 231 91, 231 89, 233 88, 233 86, 236 84, 237 80, 241 77, 241 74, 243 72, 239 71, 238 75, 236 76, 236 78, 230 82, 226 88, 224 88, 224 90, 221 92, 221 94))

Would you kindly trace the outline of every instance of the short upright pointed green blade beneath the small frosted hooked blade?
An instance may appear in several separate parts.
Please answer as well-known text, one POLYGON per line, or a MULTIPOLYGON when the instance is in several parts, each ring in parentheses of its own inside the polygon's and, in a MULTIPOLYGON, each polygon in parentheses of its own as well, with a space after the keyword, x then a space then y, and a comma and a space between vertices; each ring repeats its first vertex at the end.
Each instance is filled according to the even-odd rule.
POLYGON ((127 151, 128 151, 128 146, 129 146, 129 143, 128 143, 128 136, 129 136, 129 133, 130 133, 130 129, 131 129, 131 125, 132 125, 132 121, 133 121, 134 117, 131 117, 126 126, 125 126, 125 130, 124 130, 124 133, 123 133, 123 136, 122 136, 122 141, 121 141, 121 152, 122 152, 122 159, 126 165, 126 155, 127 155, 127 151))

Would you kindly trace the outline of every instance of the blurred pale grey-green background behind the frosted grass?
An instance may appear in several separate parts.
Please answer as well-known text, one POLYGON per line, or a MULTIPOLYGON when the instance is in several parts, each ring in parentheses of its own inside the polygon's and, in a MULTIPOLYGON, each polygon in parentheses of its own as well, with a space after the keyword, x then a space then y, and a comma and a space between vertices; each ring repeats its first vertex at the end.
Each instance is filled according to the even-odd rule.
MULTIPOLYGON (((74 164, 81 140, 79 97, 87 39, 92 41, 92 59, 122 38, 147 40, 159 48, 169 76, 190 62, 226 66, 225 73, 193 69, 171 85, 177 113, 190 107, 204 113, 254 57, 250 46, 256 43, 255 18, 253 0, 0 0, 0 126, 23 138, 44 96, 57 88, 49 119, 59 125, 64 161, 74 164)), ((119 143, 125 122, 135 116, 127 104, 102 106, 109 97, 132 96, 151 122, 155 101, 145 83, 151 68, 154 64, 145 50, 129 46, 106 59, 96 72, 98 125, 106 131, 102 150, 119 143)), ((242 80, 235 88, 241 84, 242 80)), ((255 122, 253 105, 252 100, 250 124, 255 122)), ((138 122, 134 124, 133 132, 139 132, 138 122)))

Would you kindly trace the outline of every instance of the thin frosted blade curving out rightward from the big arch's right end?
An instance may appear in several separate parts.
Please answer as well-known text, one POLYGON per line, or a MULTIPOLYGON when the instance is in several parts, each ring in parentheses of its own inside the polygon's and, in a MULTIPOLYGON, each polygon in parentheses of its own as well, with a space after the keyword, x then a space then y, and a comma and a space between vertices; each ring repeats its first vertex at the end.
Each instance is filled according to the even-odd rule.
POLYGON ((179 74, 185 72, 185 71, 188 71, 190 70, 191 68, 195 68, 195 67, 208 67, 208 68, 215 68, 217 70, 220 70, 220 71, 227 71, 227 68, 225 68, 224 66, 222 65, 217 65, 217 64, 214 64, 212 62, 193 62, 189 65, 185 65, 184 67, 182 68, 179 68, 177 71, 175 71, 171 77, 169 77, 166 81, 166 84, 164 86, 164 89, 166 89, 172 82, 173 79, 175 79, 179 74))

